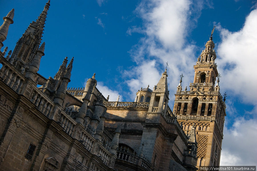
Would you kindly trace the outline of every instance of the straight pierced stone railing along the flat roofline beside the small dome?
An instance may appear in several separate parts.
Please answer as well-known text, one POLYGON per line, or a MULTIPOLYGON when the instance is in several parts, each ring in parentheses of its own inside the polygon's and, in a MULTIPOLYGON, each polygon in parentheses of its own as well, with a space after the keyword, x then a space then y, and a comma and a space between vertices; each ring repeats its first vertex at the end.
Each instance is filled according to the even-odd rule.
POLYGON ((136 107, 136 108, 148 108, 149 102, 117 102, 117 101, 104 101, 105 107, 136 107))

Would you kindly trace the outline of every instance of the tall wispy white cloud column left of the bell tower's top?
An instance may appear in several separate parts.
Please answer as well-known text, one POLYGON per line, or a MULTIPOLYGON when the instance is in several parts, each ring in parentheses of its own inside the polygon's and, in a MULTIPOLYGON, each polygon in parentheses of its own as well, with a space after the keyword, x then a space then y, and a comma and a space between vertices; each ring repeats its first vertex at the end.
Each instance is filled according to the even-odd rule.
POLYGON ((202 3, 196 4, 194 9, 190 0, 152 0, 142 1, 138 5, 135 12, 142 18, 143 26, 131 26, 127 34, 139 32, 145 36, 130 51, 137 64, 130 72, 133 77, 127 81, 133 94, 131 99, 134 98, 135 90, 141 86, 150 84, 150 87, 153 87, 157 84, 167 61, 169 87, 178 85, 181 73, 185 75, 184 85, 188 85, 192 80, 194 74, 192 64, 197 60, 194 55, 195 46, 186 42, 186 36, 192 23, 195 22, 190 20, 190 16, 202 8, 202 3), (149 77, 149 73, 154 77, 149 77))

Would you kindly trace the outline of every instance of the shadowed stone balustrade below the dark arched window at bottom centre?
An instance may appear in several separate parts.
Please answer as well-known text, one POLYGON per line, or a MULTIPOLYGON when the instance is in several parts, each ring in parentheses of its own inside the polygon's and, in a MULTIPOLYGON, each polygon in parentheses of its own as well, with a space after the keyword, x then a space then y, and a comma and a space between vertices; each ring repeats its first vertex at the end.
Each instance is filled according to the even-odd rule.
POLYGON ((139 165, 139 166, 145 168, 146 170, 152 170, 151 162, 148 159, 146 159, 145 156, 139 157, 139 156, 135 155, 135 153, 131 154, 131 153, 126 152, 125 150, 124 151, 117 150, 117 159, 139 165))

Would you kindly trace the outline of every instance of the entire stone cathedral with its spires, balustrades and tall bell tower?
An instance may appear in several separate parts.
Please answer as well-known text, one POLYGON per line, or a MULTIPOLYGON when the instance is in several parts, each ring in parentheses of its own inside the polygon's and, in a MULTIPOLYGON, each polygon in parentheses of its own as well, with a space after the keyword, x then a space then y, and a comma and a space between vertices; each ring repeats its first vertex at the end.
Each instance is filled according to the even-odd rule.
POLYGON ((166 69, 153 89, 135 92, 133 102, 120 102, 119 97, 109 101, 97 89, 96 74, 85 87, 68 87, 76 59, 60 61, 53 78, 38 73, 49 7, 50 1, 8 53, 8 47, 1 49, 14 9, 3 17, 0 170, 172 171, 219 166, 226 94, 220 94, 212 34, 193 66, 193 83, 182 90, 181 75, 178 87, 171 88, 175 97, 169 96, 166 69), (169 98, 175 98, 173 111, 169 98))

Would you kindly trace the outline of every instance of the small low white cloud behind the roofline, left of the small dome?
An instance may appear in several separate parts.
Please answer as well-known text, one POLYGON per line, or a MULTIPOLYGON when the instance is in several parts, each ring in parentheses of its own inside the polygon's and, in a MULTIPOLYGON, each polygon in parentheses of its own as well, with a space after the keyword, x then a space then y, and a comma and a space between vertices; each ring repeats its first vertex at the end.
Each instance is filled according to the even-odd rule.
POLYGON ((97 89, 103 94, 105 98, 109 95, 109 101, 116 101, 118 95, 120 96, 119 101, 122 101, 122 95, 115 90, 109 89, 107 86, 104 86, 103 82, 97 82, 97 89))

